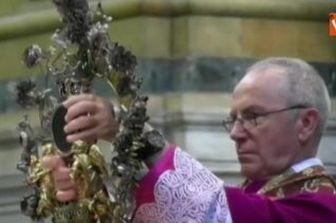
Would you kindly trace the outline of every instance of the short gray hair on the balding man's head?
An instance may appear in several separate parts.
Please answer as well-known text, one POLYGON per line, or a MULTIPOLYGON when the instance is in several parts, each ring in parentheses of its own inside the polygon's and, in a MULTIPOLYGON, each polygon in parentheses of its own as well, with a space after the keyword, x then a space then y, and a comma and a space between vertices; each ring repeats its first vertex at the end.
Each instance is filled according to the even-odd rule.
POLYGON ((327 87, 317 71, 307 62, 287 57, 272 57, 261 60, 252 65, 251 71, 264 71, 268 69, 280 69, 286 77, 284 90, 286 90, 288 106, 308 105, 315 107, 319 113, 321 122, 317 129, 317 143, 319 142, 330 113, 330 96, 327 87))

